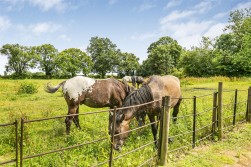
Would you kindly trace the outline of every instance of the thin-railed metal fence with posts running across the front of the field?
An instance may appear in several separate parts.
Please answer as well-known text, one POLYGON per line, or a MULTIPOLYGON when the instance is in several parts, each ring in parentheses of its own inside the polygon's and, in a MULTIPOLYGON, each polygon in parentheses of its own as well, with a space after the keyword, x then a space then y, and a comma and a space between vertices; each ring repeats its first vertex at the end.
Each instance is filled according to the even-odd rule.
MULTIPOLYGON (((227 128, 229 127, 233 127, 235 126, 235 123, 236 123, 236 116, 238 115, 245 115, 245 118, 244 119, 244 122, 245 121, 249 121, 251 120, 251 104, 250 104, 250 100, 251 100, 251 88, 249 88, 249 92, 248 92, 248 99, 247 100, 243 100, 243 101, 238 101, 238 92, 240 91, 247 91, 247 90, 224 90, 222 89, 222 83, 220 84, 219 83, 219 88, 218 88, 218 92, 215 92, 215 93, 211 93, 211 94, 205 94, 205 95, 201 95, 201 96, 194 96, 192 98, 182 98, 182 99, 187 99, 187 100, 193 100, 193 114, 189 114, 189 115, 183 115, 183 116, 177 116, 175 118, 186 118, 186 117, 192 117, 193 118, 193 130, 192 131, 185 131, 183 133, 180 133, 180 134, 177 134, 177 135, 173 135, 173 136, 170 136, 170 138, 176 138, 176 137, 179 137, 179 136, 184 136, 184 135, 187 135, 187 134, 192 134, 192 142, 191 143, 188 143, 187 145, 185 146, 182 146, 182 147, 179 147, 179 148, 176 148, 176 149, 172 149, 172 150, 167 150, 167 153, 171 153, 171 152, 176 152, 176 151, 179 151, 181 149, 184 149, 184 148, 188 148, 190 146, 192 146, 192 148, 195 147, 195 145, 197 143, 199 143, 200 141, 202 140, 205 140, 207 138, 209 138, 210 136, 213 137, 213 135, 215 134, 215 131, 216 131, 216 128, 218 127, 218 130, 219 130, 219 140, 221 140, 221 137, 222 137, 222 132, 225 132, 227 131, 227 128), (234 103, 227 103, 227 104, 222 104, 222 92, 235 92, 235 98, 234 98, 234 103), (197 103, 198 103, 198 99, 200 98, 204 98, 204 97, 210 97, 213 95, 213 107, 209 107, 209 108, 206 108, 204 109, 203 111, 199 112, 198 113, 198 110, 197 110, 197 103), (217 103, 218 102, 218 103, 217 103), (237 109, 238 109, 238 104, 247 104, 247 109, 246 109, 246 112, 238 112, 237 113, 237 109), (227 117, 226 116, 223 116, 223 115, 220 115, 220 113, 222 112, 222 110, 224 110, 223 108, 226 107, 226 106, 230 106, 230 105, 234 105, 234 113, 233 115, 228 115, 227 117), (218 114, 215 114, 214 111, 218 110, 218 114), (197 117, 199 116, 203 116, 205 113, 209 113, 209 111, 213 111, 212 113, 212 122, 210 124, 207 124, 207 125, 204 125, 202 127, 197 127, 197 117), (231 125, 225 125, 223 127, 223 120, 225 119, 230 119, 230 118, 233 118, 233 122, 231 125), (222 121, 221 121, 222 119, 222 121), (220 125, 221 124, 221 125, 220 125), (222 129, 221 129, 221 126, 222 126, 222 129), (202 131, 203 129, 208 129, 209 127, 212 127, 212 130, 210 131, 209 134, 205 134, 206 136, 197 136, 197 132, 198 131, 202 131), (199 137, 199 139, 197 139, 199 137)), ((177 98, 171 98, 171 99, 177 99, 177 98)), ((55 117, 50 117, 50 118, 40 118, 40 119, 33 119, 33 120, 25 120, 25 119, 21 119, 21 138, 20 138, 20 149, 18 147, 18 122, 17 120, 14 122, 14 123, 7 123, 7 124, 0 124, 0 127, 5 127, 5 126, 15 126, 16 128, 16 159, 12 159, 12 160, 9 160, 9 161, 5 161, 5 162, 1 162, 0 165, 3 165, 3 164, 7 164, 7 163, 13 163, 13 162, 16 162, 16 166, 18 166, 18 155, 19 155, 19 150, 20 150, 20 166, 23 165, 23 160, 26 160, 26 159, 31 159, 31 158, 34 158, 34 157, 39 157, 39 156, 43 156, 43 155, 47 155, 47 154, 51 154, 51 153, 55 153, 55 152, 60 152, 60 151, 65 151, 65 150, 69 150, 69 149, 73 149, 73 148, 77 148, 77 147, 81 147, 81 146, 84 146, 84 145, 87 145, 87 144, 92 144, 92 143, 97 143, 97 142, 100 142, 100 141, 103 141, 103 140, 106 140, 107 137, 104 137, 104 138, 101 138, 101 139, 97 139, 97 140, 93 140, 93 141, 88 141, 88 142, 85 142, 85 143, 82 143, 82 144, 78 144, 78 145, 74 145, 74 146, 70 146, 70 147, 65 147, 65 148, 60 148, 60 149, 56 149, 56 150, 51 150, 51 151, 47 151, 47 152, 44 152, 44 153, 39 153, 39 154, 34 154, 34 155, 28 155, 28 156, 23 156, 23 133, 24 133, 24 124, 26 123, 32 123, 32 122, 39 122, 39 121, 45 121, 45 120, 51 120, 51 119, 58 119, 58 118, 64 118, 64 117, 69 117, 69 116, 76 116, 76 115, 91 115, 91 114, 99 114, 99 113, 104 113, 104 112, 109 112, 109 111, 113 111, 114 112, 114 115, 113 115, 113 123, 115 123, 115 116, 116 116, 116 111, 117 110, 123 110, 123 109, 128 109, 128 108, 132 108, 132 107, 139 107, 139 106, 143 106, 143 105, 149 105, 149 104, 152 104, 152 103, 156 103, 156 102, 161 102, 163 103, 163 100, 155 100, 155 101, 152 101, 152 102, 149 102, 149 103, 145 103, 145 104, 141 104, 141 105, 135 105, 135 106, 129 106, 129 107, 124 107, 124 108, 114 108, 114 109, 110 109, 110 110, 103 110, 103 111, 96 111, 96 112, 86 112, 86 113, 78 113, 78 114, 71 114, 71 115, 64 115, 64 116, 55 116, 55 117)), ((173 119, 174 117, 170 117, 169 119, 173 119)), ((237 121, 238 123, 240 121, 243 121, 243 120, 240 120, 239 118, 239 121, 237 121)), ((129 132, 132 132, 132 131, 136 131, 136 130, 139 130, 139 129, 143 129, 145 127, 148 127, 152 124, 157 124, 159 123, 159 120, 155 121, 155 122, 152 122, 152 123, 149 123, 149 124, 145 124, 141 127, 137 127, 137 128, 134 128, 134 129, 131 129, 129 131, 126 131, 126 132, 123 132, 123 133, 129 133, 129 132)), ((161 123, 160 123, 161 124, 161 123)), ((114 125, 115 126, 115 125, 114 125)), ((117 157, 113 157, 113 141, 114 141, 114 137, 117 136, 117 135, 121 135, 123 133, 120 133, 120 134, 116 134, 114 133, 114 126, 113 126, 113 129, 112 129, 112 135, 110 135, 111 137, 111 148, 110 148, 110 158, 103 161, 103 162, 99 162, 98 164, 96 164, 95 166, 100 166, 100 165, 104 165, 106 163, 109 164, 109 166, 113 166, 113 161, 119 159, 119 158, 122 158, 128 154, 131 154, 133 152, 136 152, 136 151, 139 151, 141 149, 144 149, 145 147, 155 143, 156 141, 151 141, 145 145, 142 145, 138 148, 135 148, 129 152, 126 152, 122 155, 119 155, 117 157)), ((160 129, 161 129, 161 126, 160 126, 160 129)), ((163 129, 163 128, 162 128, 163 129)), ((168 135, 167 135, 168 136, 168 135)), ((159 137, 159 142, 160 142, 160 138, 163 137, 162 135, 159 137)), ((159 155, 160 156, 160 155, 159 155)), ((145 162, 143 162, 140 166, 143 166, 145 165, 146 163, 152 161, 154 158, 156 157, 155 156, 152 156, 150 157, 149 159, 147 159, 145 162)))

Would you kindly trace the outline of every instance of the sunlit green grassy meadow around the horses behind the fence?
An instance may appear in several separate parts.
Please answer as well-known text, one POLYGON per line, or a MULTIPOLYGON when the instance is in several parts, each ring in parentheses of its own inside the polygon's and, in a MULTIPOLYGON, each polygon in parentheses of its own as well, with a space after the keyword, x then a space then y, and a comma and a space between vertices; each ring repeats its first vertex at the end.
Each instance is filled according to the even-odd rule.
MULTIPOLYGON (((25 120, 54 117, 67 114, 67 105, 62 92, 49 94, 44 91, 44 85, 51 82, 53 85, 63 80, 5 80, 0 79, 0 124, 14 122, 23 117, 25 120), (37 86, 35 94, 20 94, 19 87, 22 83, 33 83, 37 86)), ((197 96, 197 146, 208 143, 203 140, 211 131, 211 117, 213 92, 217 91, 218 82, 223 82, 223 117, 225 118, 225 131, 231 125, 234 103, 234 90, 238 89, 237 121, 245 117, 247 89, 251 86, 249 78, 184 78, 181 79, 183 99, 178 115, 178 123, 171 123, 170 135, 175 136, 184 133, 183 136, 174 137, 169 150, 175 150, 182 146, 184 149, 171 152, 169 160, 175 162, 186 150, 191 149, 192 111, 193 97, 197 96), (205 95, 205 96, 204 96, 205 95), (205 127, 205 128, 203 128, 205 127), (201 141, 201 142, 199 142, 201 141)), ((104 90, 105 91, 105 90, 104 90)), ((107 108, 94 109, 80 106, 80 113, 106 110, 107 108)), ((24 160, 24 166, 92 166, 109 159, 110 139, 108 135, 108 112, 79 116, 81 130, 74 124, 71 126, 71 134, 65 134, 64 118, 51 119, 25 124, 24 133, 24 157, 34 154, 69 147, 93 140, 103 139, 100 142, 84 145, 74 149, 52 153, 41 157, 24 160)), ((137 126, 134 120, 132 128, 137 126)), ((19 124, 20 128, 20 124, 19 124)), ((230 127, 231 128, 231 127, 230 127)), ((0 162, 14 158, 14 128, 0 127, 0 162)), ((207 138, 205 138, 207 139, 207 138)), ((215 140, 217 138, 215 137, 215 140)), ((122 155, 134 148, 153 141, 151 128, 147 127, 139 131, 133 131, 126 140, 122 152, 114 152, 114 157, 122 155)), ((147 159, 155 156, 157 150, 153 144, 142 150, 128 154, 114 160, 114 166, 139 166, 147 159)), ((153 162, 149 162, 153 163, 153 162)), ((5 166, 14 166, 7 164, 5 166)), ((108 166, 105 163, 103 166, 108 166)))

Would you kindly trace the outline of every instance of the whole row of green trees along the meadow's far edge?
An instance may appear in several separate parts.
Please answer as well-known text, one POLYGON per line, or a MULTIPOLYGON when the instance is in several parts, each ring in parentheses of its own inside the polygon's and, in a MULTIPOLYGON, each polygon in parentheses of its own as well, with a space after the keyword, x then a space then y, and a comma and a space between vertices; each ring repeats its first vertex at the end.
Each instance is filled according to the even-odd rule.
MULTIPOLYGON (((171 37, 161 37, 150 44, 148 58, 139 63, 133 53, 121 52, 109 38, 92 37, 86 52, 69 48, 61 52, 51 44, 21 46, 5 44, 0 52, 7 56, 6 74, 11 77, 31 76, 31 69, 41 70, 37 77, 72 77, 108 72, 149 76, 173 74, 194 76, 251 76, 251 8, 229 15, 224 33, 214 39, 202 37, 199 47, 182 48, 171 37)), ((94 76, 92 76, 94 77, 94 76)))

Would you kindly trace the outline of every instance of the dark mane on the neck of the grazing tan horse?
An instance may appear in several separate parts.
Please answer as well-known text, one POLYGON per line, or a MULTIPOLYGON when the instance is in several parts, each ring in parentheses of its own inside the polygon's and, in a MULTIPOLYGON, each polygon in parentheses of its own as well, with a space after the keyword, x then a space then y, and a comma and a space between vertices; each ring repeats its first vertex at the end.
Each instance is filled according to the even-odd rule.
POLYGON ((151 88, 145 84, 138 90, 130 93, 123 102, 123 107, 144 104, 153 101, 151 88))

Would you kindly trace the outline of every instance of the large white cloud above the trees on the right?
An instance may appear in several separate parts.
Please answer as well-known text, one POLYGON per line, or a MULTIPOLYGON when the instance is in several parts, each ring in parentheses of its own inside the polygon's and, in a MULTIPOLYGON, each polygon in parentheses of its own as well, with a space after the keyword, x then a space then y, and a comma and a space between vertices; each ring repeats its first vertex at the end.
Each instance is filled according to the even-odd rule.
MULTIPOLYGON (((222 34, 224 23, 216 24, 215 18, 201 20, 201 15, 211 10, 214 3, 218 2, 202 1, 190 9, 172 11, 159 21, 161 35, 170 36, 181 46, 190 48, 198 46, 204 35, 216 37, 222 34)), ((215 17, 223 17, 223 13, 215 17)))

